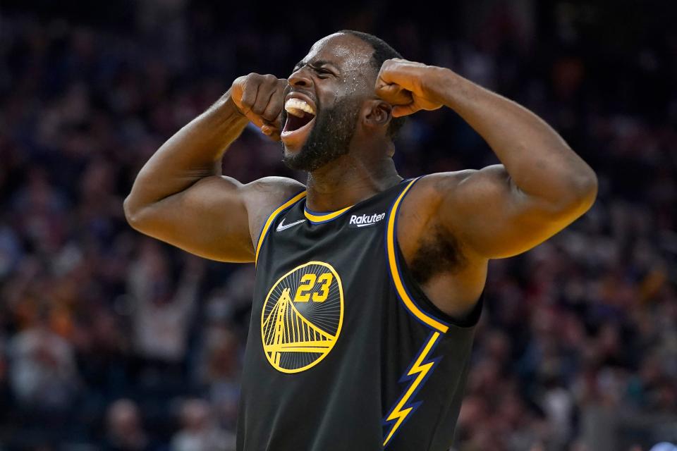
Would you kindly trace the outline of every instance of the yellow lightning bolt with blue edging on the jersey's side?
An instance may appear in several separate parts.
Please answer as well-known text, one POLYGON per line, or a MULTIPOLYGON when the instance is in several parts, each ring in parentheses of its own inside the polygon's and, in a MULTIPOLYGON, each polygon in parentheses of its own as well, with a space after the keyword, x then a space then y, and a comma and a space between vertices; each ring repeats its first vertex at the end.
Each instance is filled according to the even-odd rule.
POLYGON ((437 340, 441 334, 439 332, 433 332, 430 334, 428 341, 425 343, 425 346, 420 350, 418 357, 415 362, 410 367, 409 371, 406 373, 400 382, 412 381, 409 387, 402 395, 400 400, 395 404, 395 407, 391 410, 390 414, 386 416, 384 424, 392 424, 392 428, 386 438, 383 440, 383 446, 385 447, 390 442, 391 438, 395 435, 398 428, 408 419, 410 414, 412 414, 418 406, 420 406, 421 401, 414 402, 413 404, 408 404, 409 400, 414 397, 418 390, 422 387, 423 381, 430 375, 430 372, 433 369, 433 366, 439 361, 437 359, 432 359, 429 362, 425 362, 428 355, 432 349, 437 345, 437 340), (425 363, 424 363, 425 362, 425 363))

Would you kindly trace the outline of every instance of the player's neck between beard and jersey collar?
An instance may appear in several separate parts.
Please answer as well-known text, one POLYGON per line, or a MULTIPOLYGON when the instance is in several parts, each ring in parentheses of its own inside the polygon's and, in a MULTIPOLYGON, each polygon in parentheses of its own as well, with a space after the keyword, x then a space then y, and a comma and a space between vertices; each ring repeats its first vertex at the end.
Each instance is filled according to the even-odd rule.
MULTIPOLYGON (((362 154, 364 155, 364 154, 362 154)), ((402 180, 393 159, 356 158, 353 152, 308 173, 307 206, 315 211, 336 211, 372 197, 402 180)))

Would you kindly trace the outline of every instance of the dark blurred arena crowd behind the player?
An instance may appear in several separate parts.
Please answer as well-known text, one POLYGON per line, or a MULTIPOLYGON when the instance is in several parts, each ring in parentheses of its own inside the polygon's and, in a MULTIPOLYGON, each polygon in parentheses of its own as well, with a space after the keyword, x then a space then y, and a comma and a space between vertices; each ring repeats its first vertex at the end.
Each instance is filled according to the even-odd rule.
MULTIPOLYGON (((599 176, 583 218, 490 265, 454 450, 676 442, 676 18, 672 1, 3 0, 0 450, 234 450, 253 268, 136 233, 122 201, 234 78, 286 77, 342 28, 524 104, 599 176)), ((411 117, 395 159, 496 162, 444 110, 411 117)), ((224 167, 303 180, 280 160, 250 129, 224 167)))

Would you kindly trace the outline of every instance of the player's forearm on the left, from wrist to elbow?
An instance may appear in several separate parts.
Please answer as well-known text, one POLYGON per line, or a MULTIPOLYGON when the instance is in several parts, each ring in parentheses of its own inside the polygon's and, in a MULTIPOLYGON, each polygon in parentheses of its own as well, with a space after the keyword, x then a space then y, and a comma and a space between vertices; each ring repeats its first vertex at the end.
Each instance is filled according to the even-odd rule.
POLYGON ((221 157, 248 124, 226 92, 178 130, 141 168, 125 202, 128 213, 185 190, 201 178, 221 175, 221 157))

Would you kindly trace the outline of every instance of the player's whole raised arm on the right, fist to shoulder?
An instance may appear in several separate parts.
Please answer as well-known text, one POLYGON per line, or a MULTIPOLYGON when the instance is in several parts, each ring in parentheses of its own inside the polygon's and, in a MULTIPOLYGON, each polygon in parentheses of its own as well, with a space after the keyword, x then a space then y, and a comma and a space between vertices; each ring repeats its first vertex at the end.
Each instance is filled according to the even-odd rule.
POLYGON ((377 94, 393 116, 447 106, 489 144, 502 164, 429 176, 434 211, 477 257, 510 257, 547 240, 597 196, 592 168, 547 123, 452 70, 401 59, 384 63, 377 94))

